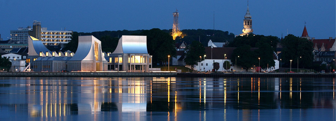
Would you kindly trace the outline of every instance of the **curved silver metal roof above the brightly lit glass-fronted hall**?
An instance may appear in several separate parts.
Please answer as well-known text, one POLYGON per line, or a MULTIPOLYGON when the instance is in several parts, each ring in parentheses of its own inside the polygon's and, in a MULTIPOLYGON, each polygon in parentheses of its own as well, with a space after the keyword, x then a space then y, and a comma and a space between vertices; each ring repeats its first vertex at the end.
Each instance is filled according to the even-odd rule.
POLYGON ((148 54, 147 36, 121 36, 113 54, 121 53, 148 54))

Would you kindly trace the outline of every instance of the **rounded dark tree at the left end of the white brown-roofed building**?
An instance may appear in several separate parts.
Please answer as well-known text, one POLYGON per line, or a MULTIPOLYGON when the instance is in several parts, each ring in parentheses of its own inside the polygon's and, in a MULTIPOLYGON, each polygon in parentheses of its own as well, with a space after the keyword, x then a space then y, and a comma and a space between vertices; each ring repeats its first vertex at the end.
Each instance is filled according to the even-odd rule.
POLYGON ((193 41, 191 45, 187 46, 186 49, 186 57, 184 58, 184 62, 186 65, 190 65, 192 70, 194 69, 194 65, 198 62, 201 62, 200 56, 204 60, 203 56, 205 54, 205 48, 203 44, 198 41, 193 41))

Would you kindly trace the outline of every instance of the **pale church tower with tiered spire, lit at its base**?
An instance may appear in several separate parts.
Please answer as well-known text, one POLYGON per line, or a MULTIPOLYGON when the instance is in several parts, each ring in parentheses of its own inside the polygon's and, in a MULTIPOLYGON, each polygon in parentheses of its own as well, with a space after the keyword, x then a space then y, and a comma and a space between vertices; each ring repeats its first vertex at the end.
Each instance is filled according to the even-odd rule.
POLYGON ((249 10, 249 1, 247 1, 247 11, 246 14, 244 16, 244 28, 243 28, 243 33, 240 34, 240 36, 244 36, 244 35, 249 35, 249 34, 253 34, 253 29, 252 29, 252 16, 250 14, 250 10, 249 10))

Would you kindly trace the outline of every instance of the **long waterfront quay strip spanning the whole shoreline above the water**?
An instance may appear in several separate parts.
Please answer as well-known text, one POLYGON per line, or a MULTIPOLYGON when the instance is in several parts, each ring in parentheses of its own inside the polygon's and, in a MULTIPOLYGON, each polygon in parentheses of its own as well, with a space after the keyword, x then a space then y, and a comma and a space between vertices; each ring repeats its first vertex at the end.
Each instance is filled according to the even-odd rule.
POLYGON ((0 72, 2 77, 314 77, 334 78, 335 73, 167 73, 167 72, 0 72))

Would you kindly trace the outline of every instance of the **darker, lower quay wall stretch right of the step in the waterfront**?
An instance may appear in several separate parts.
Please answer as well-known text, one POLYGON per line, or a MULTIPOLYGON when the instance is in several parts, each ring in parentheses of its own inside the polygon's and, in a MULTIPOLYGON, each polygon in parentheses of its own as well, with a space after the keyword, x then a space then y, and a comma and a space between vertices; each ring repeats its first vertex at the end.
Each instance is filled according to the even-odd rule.
POLYGON ((225 77, 301 77, 301 78, 336 78, 335 73, 178 73, 177 77, 212 77, 212 78, 225 78, 225 77))

